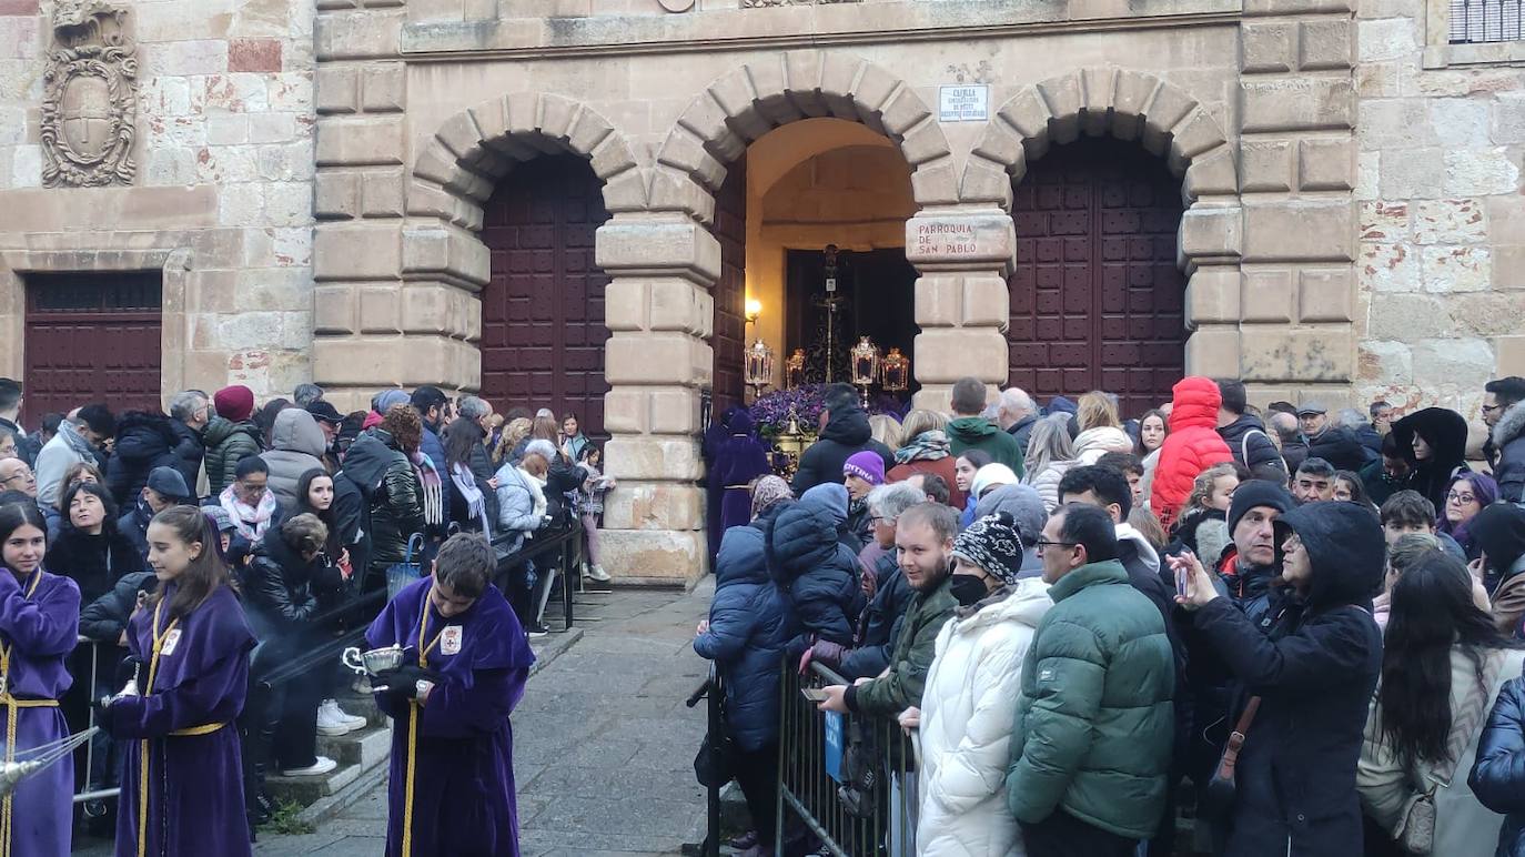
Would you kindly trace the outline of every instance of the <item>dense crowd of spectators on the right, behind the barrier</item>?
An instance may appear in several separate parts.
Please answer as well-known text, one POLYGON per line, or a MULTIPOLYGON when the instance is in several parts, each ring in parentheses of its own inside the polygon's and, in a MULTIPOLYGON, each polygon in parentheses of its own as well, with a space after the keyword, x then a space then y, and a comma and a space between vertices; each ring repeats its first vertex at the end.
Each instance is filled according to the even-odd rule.
POLYGON ((1455 410, 1235 380, 1121 415, 964 378, 903 419, 836 384, 785 483, 727 413, 694 650, 732 845, 817 845, 773 819, 782 669, 819 663, 819 709, 918 746, 880 776, 920 855, 1525 855, 1525 378, 1481 419, 1469 459, 1455 410))

